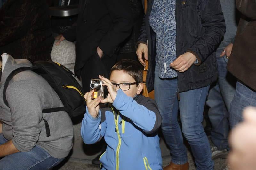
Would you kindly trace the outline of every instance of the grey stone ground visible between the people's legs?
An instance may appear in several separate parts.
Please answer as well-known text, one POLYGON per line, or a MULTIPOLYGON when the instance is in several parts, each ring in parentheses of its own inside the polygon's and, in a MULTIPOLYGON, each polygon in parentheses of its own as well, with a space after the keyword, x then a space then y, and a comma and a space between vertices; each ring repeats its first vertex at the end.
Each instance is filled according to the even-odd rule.
MULTIPOLYGON (((169 156, 169 149, 163 140, 160 141, 160 147, 162 150, 163 166, 167 166, 170 163, 171 156, 169 156)), ((98 153, 97 153, 98 154, 98 153)), ((72 158, 70 157, 65 162, 63 162, 54 170, 99 170, 99 166, 92 165, 91 160, 97 155, 88 155, 85 159, 72 158)), ((190 165, 190 170, 196 170, 193 157, 190 151, 188 151, 188 162, 190 165)), ((226 159, 216 159, 215 170, 222 170, 226 166, 226 159)))

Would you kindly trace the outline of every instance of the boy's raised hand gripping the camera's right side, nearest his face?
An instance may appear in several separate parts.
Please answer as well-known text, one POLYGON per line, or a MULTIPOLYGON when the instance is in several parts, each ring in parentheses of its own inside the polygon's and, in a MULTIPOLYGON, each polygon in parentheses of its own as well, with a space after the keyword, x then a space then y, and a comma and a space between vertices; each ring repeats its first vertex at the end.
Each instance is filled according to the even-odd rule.
POLYGON ((104 81, 102 84, 103 86, 107 86, 108 88, 108 96, 107 98, 101 100, 101 103, 113 103, 113 101, 116 99, 117 91, 113 87, 111 81, 107 78, 104 78, 103 76, 99 75, 99 78, 104 81))

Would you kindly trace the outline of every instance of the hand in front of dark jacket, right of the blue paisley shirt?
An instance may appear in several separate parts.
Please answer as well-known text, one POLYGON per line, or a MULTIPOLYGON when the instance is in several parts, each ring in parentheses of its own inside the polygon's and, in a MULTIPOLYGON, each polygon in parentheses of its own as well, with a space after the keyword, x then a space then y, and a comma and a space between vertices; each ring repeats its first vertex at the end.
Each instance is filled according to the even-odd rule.
POLYGON ((180 55, 176 60, 174 60, 170 64, 170 67, 179 72, 185 72, 194 64, 195 61, 196 56, 190 52, 186 52, 180 55))

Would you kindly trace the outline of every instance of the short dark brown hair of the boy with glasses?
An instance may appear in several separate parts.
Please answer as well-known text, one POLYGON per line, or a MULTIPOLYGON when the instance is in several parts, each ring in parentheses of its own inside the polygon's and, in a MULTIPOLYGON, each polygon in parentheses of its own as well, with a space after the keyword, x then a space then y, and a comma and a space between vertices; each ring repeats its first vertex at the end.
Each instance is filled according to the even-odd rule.
MULTIPOLYGON (((117 62, 110 70, 110 75, 114 70, 122 70, 132 76, 137 83, 143 82, 144 67, 137 61, 131 59, 122 59, 117 62)), ((137 84, 138 85, 138 84, 137 84)))

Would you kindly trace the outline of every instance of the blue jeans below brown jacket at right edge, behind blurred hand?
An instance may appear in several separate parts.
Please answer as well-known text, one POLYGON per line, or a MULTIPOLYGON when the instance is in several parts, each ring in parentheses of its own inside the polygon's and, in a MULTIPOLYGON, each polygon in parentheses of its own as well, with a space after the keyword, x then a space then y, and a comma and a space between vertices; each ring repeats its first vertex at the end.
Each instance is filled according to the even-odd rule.
POLYGON ((231 128, 243 121, 242 113, 248 106, 256 107, 256 91, 237 81, 236 93, 230 105, 231 128))

